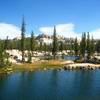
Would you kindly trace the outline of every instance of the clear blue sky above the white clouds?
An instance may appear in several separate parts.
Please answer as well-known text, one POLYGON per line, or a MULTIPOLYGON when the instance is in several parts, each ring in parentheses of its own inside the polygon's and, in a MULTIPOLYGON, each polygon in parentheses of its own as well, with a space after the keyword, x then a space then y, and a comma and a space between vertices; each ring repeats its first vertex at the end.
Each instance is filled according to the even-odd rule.
POLYGON ((28 33, 67 23, 76 33, 100 28, 100 0, 0 0, 0 23, 20 27, 23 14, 28 33))

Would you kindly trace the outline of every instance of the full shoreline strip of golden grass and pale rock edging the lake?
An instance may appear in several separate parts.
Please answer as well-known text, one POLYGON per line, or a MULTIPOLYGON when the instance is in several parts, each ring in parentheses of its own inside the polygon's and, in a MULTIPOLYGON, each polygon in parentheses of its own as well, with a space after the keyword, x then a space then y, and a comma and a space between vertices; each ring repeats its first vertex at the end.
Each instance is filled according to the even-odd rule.
POLYGON ((7 66, 0 68, 0 74, 10 74, 14 72, 29 71, 33 72, 36 70, 96 70, 100 69, 100 64, 92 63, 74 63, 72 61, 45 61, 45 62, 35 62, 35 63, 24 63, 24 64, 13 64, 12 66, 7 66))

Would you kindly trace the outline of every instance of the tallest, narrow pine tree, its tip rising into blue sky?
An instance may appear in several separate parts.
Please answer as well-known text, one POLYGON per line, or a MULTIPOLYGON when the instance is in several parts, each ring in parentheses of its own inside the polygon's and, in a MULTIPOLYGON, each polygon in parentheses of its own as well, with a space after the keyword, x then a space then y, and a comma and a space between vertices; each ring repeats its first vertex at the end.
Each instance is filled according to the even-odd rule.
POLYGON ((22 62, 25 61, 25 21, 24 21, 24 17, 23 17, 23 21, 22 21, 22 27, 21 27, 21 52, 22 52, 22 62))

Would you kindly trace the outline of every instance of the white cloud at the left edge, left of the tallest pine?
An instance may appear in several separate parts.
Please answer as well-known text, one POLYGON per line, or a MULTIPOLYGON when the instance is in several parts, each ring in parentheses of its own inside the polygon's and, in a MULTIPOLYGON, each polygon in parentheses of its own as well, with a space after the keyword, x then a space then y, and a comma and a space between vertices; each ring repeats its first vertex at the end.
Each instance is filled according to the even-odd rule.
POLYGON ((15 37, 20 37, 21 31, 20 28, 7 23, 0 23, 0 39, 5 39, 7 36, 9 39, 13 39, 15 37))

